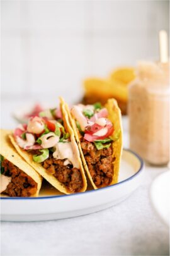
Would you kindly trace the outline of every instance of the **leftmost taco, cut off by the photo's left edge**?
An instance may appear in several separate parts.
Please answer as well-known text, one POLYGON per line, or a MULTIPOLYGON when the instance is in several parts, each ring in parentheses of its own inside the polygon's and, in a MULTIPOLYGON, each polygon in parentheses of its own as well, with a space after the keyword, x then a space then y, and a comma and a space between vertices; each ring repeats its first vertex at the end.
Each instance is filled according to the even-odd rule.
POLYGON ((1 193, 9 197, 38 197, 42 177, 16 152, 10 131, 1 130, 1 193))

